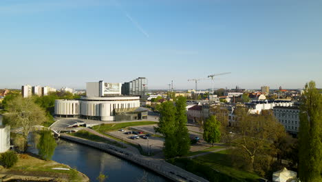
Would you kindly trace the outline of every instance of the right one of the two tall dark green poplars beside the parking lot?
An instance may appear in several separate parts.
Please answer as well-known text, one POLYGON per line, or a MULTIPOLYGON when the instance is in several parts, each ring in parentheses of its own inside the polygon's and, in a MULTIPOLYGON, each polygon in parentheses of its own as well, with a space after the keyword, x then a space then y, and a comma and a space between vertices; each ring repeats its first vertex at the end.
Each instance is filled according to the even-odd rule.
POLYGON ((190 150, 190 135, 188 128, 186 128, 186 98, 178 97, 175 102, 175 123, 177 125, 175 138, 178 141, 178 156, 188 154, 190 150))

